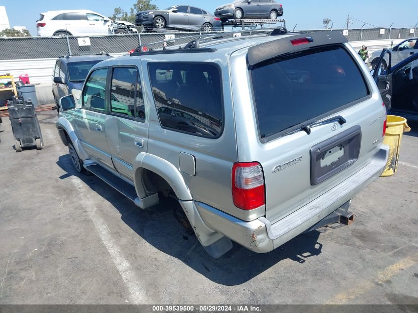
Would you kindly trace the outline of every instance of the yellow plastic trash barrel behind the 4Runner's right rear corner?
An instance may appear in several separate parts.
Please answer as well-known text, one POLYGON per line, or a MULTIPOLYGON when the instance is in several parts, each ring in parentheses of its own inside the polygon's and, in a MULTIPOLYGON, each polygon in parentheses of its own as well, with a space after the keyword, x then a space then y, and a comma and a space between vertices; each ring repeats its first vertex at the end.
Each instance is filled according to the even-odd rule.
POLYGON ((411 131, 407 120, 401 116, 388 115, 386 122, 386 134, 383 143, 388 145, 389 157, 387 159, 385 170, 381 177, 395 174, 398 168, 399 150, 401 149, 402 134, 411 131))

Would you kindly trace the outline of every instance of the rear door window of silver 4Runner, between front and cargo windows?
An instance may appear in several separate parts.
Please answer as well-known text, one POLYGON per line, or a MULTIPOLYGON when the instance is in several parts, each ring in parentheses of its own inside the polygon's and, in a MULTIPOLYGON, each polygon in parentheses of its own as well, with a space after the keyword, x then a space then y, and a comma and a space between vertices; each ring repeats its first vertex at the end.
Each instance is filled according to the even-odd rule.
POLYGON ((141 118, 145 118, 142 91, 136 68, 115 67, 113 69, 110 100, 111 112, 130 117, 141 115, 141 118), (142 113, 139 114, 139 111, 142 113))

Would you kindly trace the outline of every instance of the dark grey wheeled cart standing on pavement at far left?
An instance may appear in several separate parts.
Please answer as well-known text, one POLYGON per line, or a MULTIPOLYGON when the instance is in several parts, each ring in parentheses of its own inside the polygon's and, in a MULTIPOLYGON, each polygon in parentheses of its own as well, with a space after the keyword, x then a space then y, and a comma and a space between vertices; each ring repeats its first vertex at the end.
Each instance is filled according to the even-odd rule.
POLYGON ((11 101, 7 102, 7 106, 13 135, 16 139, 16 152, 33 146, 41 150, 44 141, 32 101, 26 101, 22 96, 14 96, 11 101))

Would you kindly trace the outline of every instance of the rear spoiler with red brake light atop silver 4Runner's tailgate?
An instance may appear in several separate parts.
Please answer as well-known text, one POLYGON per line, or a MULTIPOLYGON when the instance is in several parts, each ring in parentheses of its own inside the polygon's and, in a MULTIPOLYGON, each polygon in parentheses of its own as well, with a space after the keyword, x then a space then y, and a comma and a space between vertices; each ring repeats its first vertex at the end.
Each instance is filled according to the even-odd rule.
POLYGON ((280 38, 275 41, 254 45, 248 49, 247 61, 249 66, 270 60, 278 55, 292 53, 322 45, 348 43, 348 40, 338 31, 322 33, 302 33, 280 38))

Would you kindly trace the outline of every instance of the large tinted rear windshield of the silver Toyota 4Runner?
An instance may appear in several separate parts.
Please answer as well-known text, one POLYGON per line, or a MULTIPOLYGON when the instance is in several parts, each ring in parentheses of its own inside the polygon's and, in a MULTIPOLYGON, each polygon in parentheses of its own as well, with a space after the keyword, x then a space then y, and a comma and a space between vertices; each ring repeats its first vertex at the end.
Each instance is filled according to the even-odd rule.
POLYGON ((251 68, 260 137, 285 134, 369 94, 355 61, 341 46, 279 56, 251 68))

